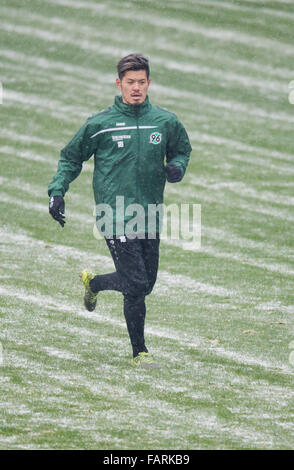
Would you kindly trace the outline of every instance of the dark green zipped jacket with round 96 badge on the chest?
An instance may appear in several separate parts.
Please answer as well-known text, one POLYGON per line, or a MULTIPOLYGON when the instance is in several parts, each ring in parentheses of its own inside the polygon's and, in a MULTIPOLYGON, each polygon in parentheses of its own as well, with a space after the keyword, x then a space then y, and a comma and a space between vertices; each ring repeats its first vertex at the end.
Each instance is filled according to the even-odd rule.
MULTIPOLYGON (((48 194, 64 196, 83 162, 94 154, 96 204, 111 206, 115 221, 116 197, 123 196, 125 207, 140 204, 147 217, 148 204, 163 202, 164 164, 179 166, 184 175, 191 150, 175 114, 150 104, 148 96, 139 106, 125 104, 116 96, 113 106, 91 116, 62 149, 48 194)), ((124 218, 130 220, 130 216, 124 218)))

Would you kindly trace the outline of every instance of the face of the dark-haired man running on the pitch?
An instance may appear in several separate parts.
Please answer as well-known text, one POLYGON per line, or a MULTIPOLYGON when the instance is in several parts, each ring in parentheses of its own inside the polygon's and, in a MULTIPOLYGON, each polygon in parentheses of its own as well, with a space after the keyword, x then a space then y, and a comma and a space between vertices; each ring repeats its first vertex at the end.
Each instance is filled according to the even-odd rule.
POLYGON ((123 103, 136 106, 145 101, 150 79, 147 80, 146 70, 129 70, 121 80, 116 79, 116 85, 121 90, 123 103))

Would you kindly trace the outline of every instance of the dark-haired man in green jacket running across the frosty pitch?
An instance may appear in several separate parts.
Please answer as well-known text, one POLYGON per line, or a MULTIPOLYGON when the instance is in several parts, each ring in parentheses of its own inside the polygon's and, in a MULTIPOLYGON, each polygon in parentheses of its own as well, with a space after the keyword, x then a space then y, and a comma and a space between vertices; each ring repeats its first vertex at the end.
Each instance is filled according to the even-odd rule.
POLYGON ((99 225, 101 213, 97 215, 97 226, 104 234, 116 270, 100 275, 82 272, 84 305, 93 311, 99 292, 121 292, 132 363, 135 367, 155 368, 158 365, 145 344, 144 325, 145 297, 157 277, 160 217, 156 213, 155 222, 154 217, 151 221, 149 209, 163 203, 166 181, 182 180, 192 148, 176 115, 149 102, 148 59, 130 54, 118 62, 117 71, 116 85, 121 96, 115 97, 112 106, 88 118, 61 151, 57 173, 48 188, 49 212, 63 227, 64 195, 80 174, 83 162, 94 155, 96 207, 107 205, 112 213, 110 230, 103 232, 99 225), (118 197, 124 208, 142 208, 144 217, 137 224, 140 228, 135 236, 134 227, 132 233, 128 229, 132 214, 125 210, 121 216, 117 210, 118 197))

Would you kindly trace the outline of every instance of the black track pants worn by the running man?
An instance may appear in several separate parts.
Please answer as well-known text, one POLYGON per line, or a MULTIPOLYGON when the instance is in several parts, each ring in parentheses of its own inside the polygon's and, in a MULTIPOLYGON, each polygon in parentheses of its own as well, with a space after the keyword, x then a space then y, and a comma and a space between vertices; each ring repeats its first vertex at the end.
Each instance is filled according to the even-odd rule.
POLYGON ((133 356, 148 352, 145 346, 145 296, 150 294, 157 277, 159 238, 106 239, 116 272, 95 276, 93 292, 116 290, 124 296, 124 315, 133 348, 133 356))

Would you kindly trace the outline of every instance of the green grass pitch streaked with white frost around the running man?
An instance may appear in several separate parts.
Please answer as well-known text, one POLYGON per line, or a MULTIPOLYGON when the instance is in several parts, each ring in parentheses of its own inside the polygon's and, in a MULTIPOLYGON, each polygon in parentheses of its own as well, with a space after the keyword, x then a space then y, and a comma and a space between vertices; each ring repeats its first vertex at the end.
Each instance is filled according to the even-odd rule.
MULTIPOLYGON (((290 449, 294 6, 286 1, 2 0, 1 449, 290 449), (262 4, 261 4, 262 3, 262 4), (150 57, 150 100, 193 152, 166 203, 202 207, 202 246, 162 243, 147 345, 130 367, 118 293, 82 305, 78 273, 113 269, 93 229, 93 162, 66 195, 60 149, 113 102, 115 65, 150 57)), ((293 344, 293 343, 292 343, 293 344)))

